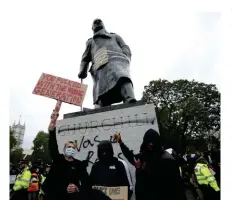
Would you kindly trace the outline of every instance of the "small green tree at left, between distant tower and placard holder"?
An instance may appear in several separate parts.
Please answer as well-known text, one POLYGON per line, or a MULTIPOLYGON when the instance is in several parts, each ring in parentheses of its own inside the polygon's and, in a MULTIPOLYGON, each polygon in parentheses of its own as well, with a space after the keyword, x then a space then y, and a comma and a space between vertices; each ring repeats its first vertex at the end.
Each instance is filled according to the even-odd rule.
POLYGON ((33 140, 34 146, 32 149, 34 150, 31 155, 32 162, 37 162, 39 159, 43 161, 43 163, 50 163, 50 153, 48 149, 48 140, 49 135, 44 131, 40 131, 37 133, 35 139, 33 140))

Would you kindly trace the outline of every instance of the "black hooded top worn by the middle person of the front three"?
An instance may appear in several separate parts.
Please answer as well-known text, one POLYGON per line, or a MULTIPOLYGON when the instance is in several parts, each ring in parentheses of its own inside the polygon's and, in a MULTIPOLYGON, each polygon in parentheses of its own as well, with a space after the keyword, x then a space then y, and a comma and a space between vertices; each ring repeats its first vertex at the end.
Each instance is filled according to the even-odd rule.
MULTIPOLYGON (((101 141, 99 146, 101 146, 102 142, 104 141, 101 141)), ((108 150, 108 152, 109 151, 113 153, 113 149, 108 150)), ((93 164, 90 173, 91 185, 107 187, 127 186, 128 196, 130 198, 133 193, 133 187, 131 176, 126 169, 127 166, 125 166, 123 161, 113 157, 113 154, 111 155, 112 158, 108 161, 102 161, 100 155, 98 156, 100 159, 93 164)))

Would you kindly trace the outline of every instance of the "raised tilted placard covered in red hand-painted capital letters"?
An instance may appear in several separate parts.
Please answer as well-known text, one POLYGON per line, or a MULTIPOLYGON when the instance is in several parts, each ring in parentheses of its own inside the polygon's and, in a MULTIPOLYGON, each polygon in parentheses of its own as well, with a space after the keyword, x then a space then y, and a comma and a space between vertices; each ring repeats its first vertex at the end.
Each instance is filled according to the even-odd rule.
POLYGON ((86 90, 87 85, 85 84, 43 73, 33 90, 33 94, 81 106, 86 90))

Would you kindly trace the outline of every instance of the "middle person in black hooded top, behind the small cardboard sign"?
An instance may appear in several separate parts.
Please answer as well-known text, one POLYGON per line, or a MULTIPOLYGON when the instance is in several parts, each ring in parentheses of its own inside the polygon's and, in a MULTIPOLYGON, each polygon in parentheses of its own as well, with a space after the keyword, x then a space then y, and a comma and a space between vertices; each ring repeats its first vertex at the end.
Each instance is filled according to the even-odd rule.
POLYGON ((114 157, 112 144, 108 140, 99 143, 97 153, 99 161, 92 166, 91 184, 106 187, 128 186, 130 199, 133 186, 127 164, 114 157))

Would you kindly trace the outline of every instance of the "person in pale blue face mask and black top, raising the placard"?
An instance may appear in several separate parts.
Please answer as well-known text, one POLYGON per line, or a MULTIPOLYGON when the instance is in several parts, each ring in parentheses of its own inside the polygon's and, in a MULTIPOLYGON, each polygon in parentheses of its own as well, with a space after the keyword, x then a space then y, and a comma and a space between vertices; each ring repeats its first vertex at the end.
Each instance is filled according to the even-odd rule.
MULTIPOLYGON (((57 116, 52 117, 57 119, 57 116)), ((74 142, 67 142, 64 146, 64 155, 60 154, 55 127, 50 126, 49 149, 53 163, 42 187, 47 199, 77 200, 80 193, 90 188, 90 184, 86 168, 80 160, 74 158, 76 152, 74 142)))

